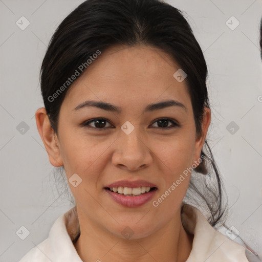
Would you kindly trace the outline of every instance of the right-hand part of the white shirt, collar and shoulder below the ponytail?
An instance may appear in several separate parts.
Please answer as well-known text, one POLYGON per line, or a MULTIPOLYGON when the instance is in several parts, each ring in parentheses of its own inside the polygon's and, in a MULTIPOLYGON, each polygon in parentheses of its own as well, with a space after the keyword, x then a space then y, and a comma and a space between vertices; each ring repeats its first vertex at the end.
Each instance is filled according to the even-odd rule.
POLYGON ((260 261, 254 260, 258 257, 248 252, 244 246, 232 241, 227 235, 213 228, 197 208, 185 204, 182 208, 181 220, 185 230, 194 235, 192 250, 187 262, 260 261))

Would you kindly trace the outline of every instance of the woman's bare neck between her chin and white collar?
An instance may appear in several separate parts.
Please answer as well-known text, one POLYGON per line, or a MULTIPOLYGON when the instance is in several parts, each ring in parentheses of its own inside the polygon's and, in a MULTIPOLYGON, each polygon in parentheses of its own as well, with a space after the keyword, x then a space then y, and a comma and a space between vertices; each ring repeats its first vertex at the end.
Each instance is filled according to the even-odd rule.
POLYGON ((179 262, 186 261, 192 249, 193 235, 185 231, 180 209, 160 230, 144 238, 129 240, 112 235, 92 221, 81 220, 84 216, 81 211, 78 213, 81 234, 74 245, 84 262, 179 262))

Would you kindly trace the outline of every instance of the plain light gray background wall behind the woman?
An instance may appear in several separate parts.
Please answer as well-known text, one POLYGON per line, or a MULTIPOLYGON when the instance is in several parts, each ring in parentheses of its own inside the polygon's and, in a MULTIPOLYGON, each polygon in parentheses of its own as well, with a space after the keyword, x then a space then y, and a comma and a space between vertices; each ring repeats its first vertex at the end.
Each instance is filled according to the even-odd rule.
MULTIPOLYGON (((82 2, 0 0, 0 261, 18 261, 72 207, 56 189, 34 114, 43 106, 39 70, 48 42, 61 20, 82 2), (25 30, 16 25, 21 16, 30 22, 25 30), (21 129, 22 121, 28 130, 21 129), (16 235, 21 226, 30 231, 25 240, 16 235)), ((167 2, 186 13, 208 64, 208 139, 228 192, 227 224, 262 256, 262 2, 167 2), (226 24, 231 16, 240 23, 234 30, 226 24)), ((236 20, 228 23, 235 27, 236 20)))

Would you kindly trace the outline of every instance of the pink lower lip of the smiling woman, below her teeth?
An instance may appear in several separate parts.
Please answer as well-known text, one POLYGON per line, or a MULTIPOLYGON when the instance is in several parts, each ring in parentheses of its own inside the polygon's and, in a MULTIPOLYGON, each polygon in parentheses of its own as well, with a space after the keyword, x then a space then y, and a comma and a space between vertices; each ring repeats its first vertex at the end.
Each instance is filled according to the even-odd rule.
POLYGON ((127 195, 124 195, 124 194, 118 194, 108 189, 105 189, 105 191, 110 195, 110 197, 114 201, 116 201, 117 203, 119 203, 122 206, 139 207, 147 203, 154 196, 157 190, 154 189, 147 193, 136 195, 134 197, 128 197, 127 195))

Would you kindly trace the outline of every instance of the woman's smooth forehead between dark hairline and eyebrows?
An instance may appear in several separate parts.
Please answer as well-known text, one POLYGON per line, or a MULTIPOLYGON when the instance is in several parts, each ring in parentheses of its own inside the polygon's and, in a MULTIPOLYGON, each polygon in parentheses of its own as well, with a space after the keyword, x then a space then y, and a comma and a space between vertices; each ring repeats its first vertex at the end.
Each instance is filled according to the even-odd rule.
POLYGON ((71 85, 65 102, 77 106, 85 99, 122 105, 144 104, 173 97, 188 104, 186 81, 173 74, 179 64, 150 46, 114 46, 102 52, 71 85), (110 100, 110 101, 109 101, 110 100))

